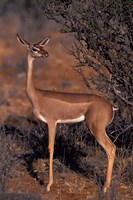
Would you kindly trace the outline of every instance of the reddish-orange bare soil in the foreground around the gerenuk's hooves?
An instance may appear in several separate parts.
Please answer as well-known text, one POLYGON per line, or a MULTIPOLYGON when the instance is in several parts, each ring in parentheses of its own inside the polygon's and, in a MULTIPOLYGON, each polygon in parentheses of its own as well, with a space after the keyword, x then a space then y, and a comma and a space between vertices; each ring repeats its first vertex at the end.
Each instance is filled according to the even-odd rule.
MULTIPOLYGON (((47 162, 44 160, 43 163, 47 162)), ((54 183, 50 192, 46 192, 46 184, 48 180, 48 171, 38 170, 39 179, 45 182, 41 186, 36 179, 31 177, 25 167, 16 166, 11 173, 7 184, 8 193, 37 195, 46 200, 98 200, 98 199, 126 199, 132 200, 132 189, 129 185, 121 183, 117 189, 109 190, 107 194, 100 192, 95 181, 85 178, 81 174, 75 173, 61 164, 58 160, 54 160, 54 183), (115 192, 117 194, 115 194, 115 192)))

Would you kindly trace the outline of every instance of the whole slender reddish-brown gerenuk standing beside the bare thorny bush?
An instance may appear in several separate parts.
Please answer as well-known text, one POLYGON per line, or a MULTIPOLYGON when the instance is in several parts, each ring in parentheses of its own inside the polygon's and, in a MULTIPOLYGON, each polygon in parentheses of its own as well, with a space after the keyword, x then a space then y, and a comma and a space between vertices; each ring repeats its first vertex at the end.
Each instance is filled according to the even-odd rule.
POLYGON ((53 183, 53 153, 58 122, 77 122, 85 120, 90 131, 99 144, 104 148, 108 156, 108 168, 104 192, 110 186, 112 170, 115 158, 116 147, 106 134, 106 127, 112 122, 116 106, 109 103, 101 96, 94 94, 62 93, 47 90, 39 90, 34 86, 33 60, 34 58, 48 56, 43 48, 49 38, 30 45, 28 42, 17 36, 19 42, 28 50, 28 72, 26 82, 26 94, 31 102, 34 115, 46 122, 49 129, 49 182, 47 191, 53 183), (38 48, 37 52, 33 47, 38 48))

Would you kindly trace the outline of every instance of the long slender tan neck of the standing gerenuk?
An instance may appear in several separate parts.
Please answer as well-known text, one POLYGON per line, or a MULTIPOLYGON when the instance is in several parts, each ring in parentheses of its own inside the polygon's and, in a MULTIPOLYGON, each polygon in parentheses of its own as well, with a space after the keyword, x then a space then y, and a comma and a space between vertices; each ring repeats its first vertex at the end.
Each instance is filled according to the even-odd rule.
POLYGON ((26 94, 28 99, 33 105, 35 98, 35 86, 33 78, 33 61, 34 58, 28 53, 28 71, 27 71, 27 80, 26 80, 26 94))

